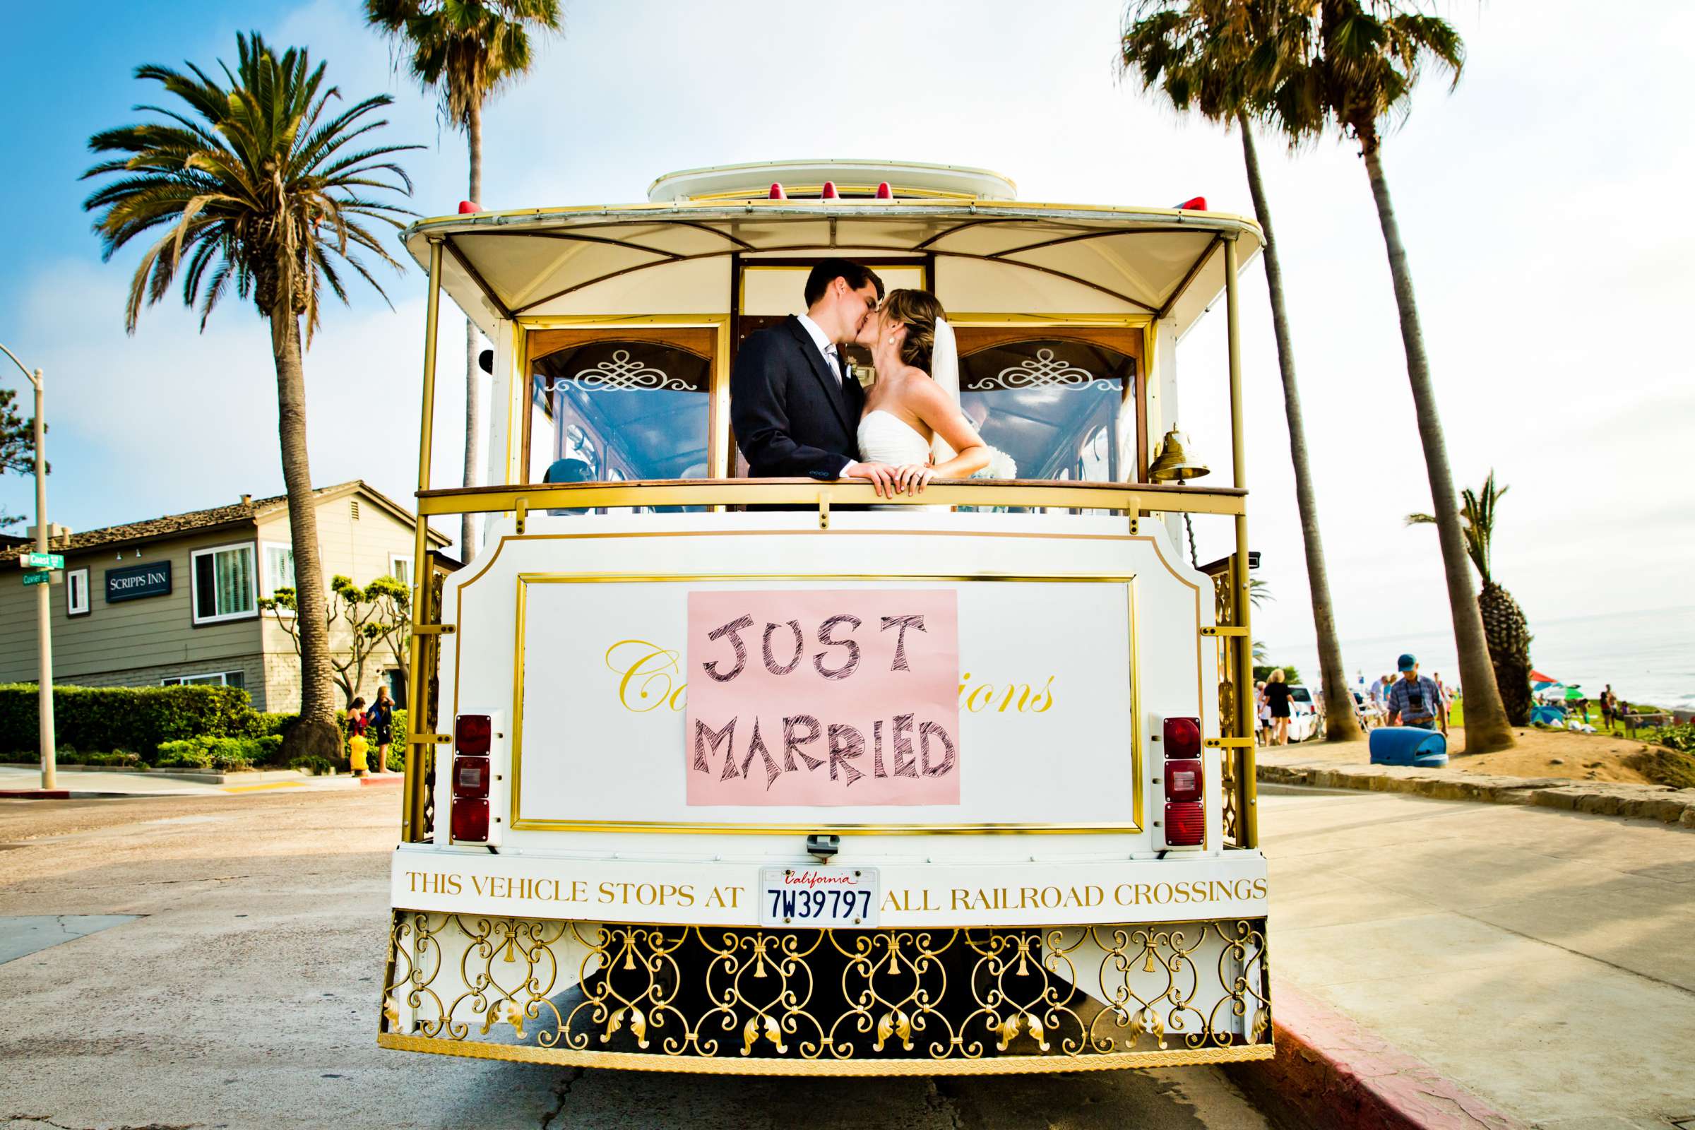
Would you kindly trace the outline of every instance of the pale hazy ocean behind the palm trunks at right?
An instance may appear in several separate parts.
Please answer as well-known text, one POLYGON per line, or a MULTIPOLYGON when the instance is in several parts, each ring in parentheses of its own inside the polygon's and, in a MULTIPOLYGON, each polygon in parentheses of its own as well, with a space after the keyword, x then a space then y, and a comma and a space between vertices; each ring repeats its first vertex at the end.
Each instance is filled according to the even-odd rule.
MULTIPOLYGON (((1664 708, 1695 708, 1695 605, 1654 608, 1564 620, 1531 622, 1531 661, 1542 674, 1581 686, 1590 698, 1612 683, 1612 693, 1627 703, 1664 708)), ((1453 630, 1415 635, 1344 639, 1342 662, 1348 679, 1363 674, 1370 684, 1395 669, 1402 652, 1419 657, 1422 674, 1439 673, 1442 683, 1459 681, 1453 630)), ((1314 642, 1285 645, 1266 642, 1271 662, 1293 664, 1309 683, 1319 681, 1319 649, 1314 642)))

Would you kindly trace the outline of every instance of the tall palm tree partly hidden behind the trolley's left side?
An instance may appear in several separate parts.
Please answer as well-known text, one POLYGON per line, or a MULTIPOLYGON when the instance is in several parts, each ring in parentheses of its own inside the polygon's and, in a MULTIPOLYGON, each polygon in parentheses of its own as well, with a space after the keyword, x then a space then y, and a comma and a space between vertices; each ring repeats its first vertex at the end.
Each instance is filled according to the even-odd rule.
MULTIPOLYGON (((483 198, 483 103, 531 66, 531 29, 559 30, 559 0, 364 0, 364 19, 402 41, 424 90, 471 151, 470 198, 483 198)), ((483 378, 476 327, 464 320, 464 485, 481 478, 483 378)), ((476 556, 476 515, 459 520, 459 557, 476 556)))

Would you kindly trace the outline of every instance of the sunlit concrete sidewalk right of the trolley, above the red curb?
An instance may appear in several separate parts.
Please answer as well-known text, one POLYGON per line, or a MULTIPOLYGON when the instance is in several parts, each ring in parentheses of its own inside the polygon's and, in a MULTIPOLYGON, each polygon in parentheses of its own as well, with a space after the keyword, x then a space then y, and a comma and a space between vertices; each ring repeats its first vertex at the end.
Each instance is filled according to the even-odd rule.
POLYGON ((1268 784, 1259 810, 1273 978, 1529 1125, 1695 1118, 1688 832, 1268 784))

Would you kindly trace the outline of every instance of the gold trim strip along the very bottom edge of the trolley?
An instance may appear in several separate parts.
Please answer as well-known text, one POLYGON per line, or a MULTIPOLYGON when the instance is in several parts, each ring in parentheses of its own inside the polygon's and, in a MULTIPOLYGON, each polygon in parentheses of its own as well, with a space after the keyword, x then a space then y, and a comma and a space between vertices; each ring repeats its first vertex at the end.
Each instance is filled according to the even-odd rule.
POLYGON ((427 1035, 378 1032, 376 1045, 398 1052, 464 1055, 466 1059, 503 1059, 520 1064, 564 1064, 573 1067, 624 1067, 627 1071, 671 1071, 707 1076, 1007 1076, 1061 1071, 1114 1071, 1120 1067, 1192 1067, 1200 1064, 1239 1064, 1273 1059, 1273 1044, 1236 1044, 1229 1047, 1161 1052, 1105 1052, 1100 1055, 998 1055, 983 1059, 776 1059, 776 1057, 700 1057, 656 1055, 651 1052, 576 1052, 563 1047, 527 1044, 483 1044, 478 1040, 442 1040, 427 1035))

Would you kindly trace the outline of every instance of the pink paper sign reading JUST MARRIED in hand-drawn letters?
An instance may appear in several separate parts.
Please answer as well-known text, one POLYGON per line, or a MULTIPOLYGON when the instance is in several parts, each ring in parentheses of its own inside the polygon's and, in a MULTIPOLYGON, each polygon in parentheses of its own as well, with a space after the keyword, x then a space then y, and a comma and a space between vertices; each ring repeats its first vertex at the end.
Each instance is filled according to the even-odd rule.
POLYGON ((688 595, 690 805, 958 805, 951 590, 688 595))

